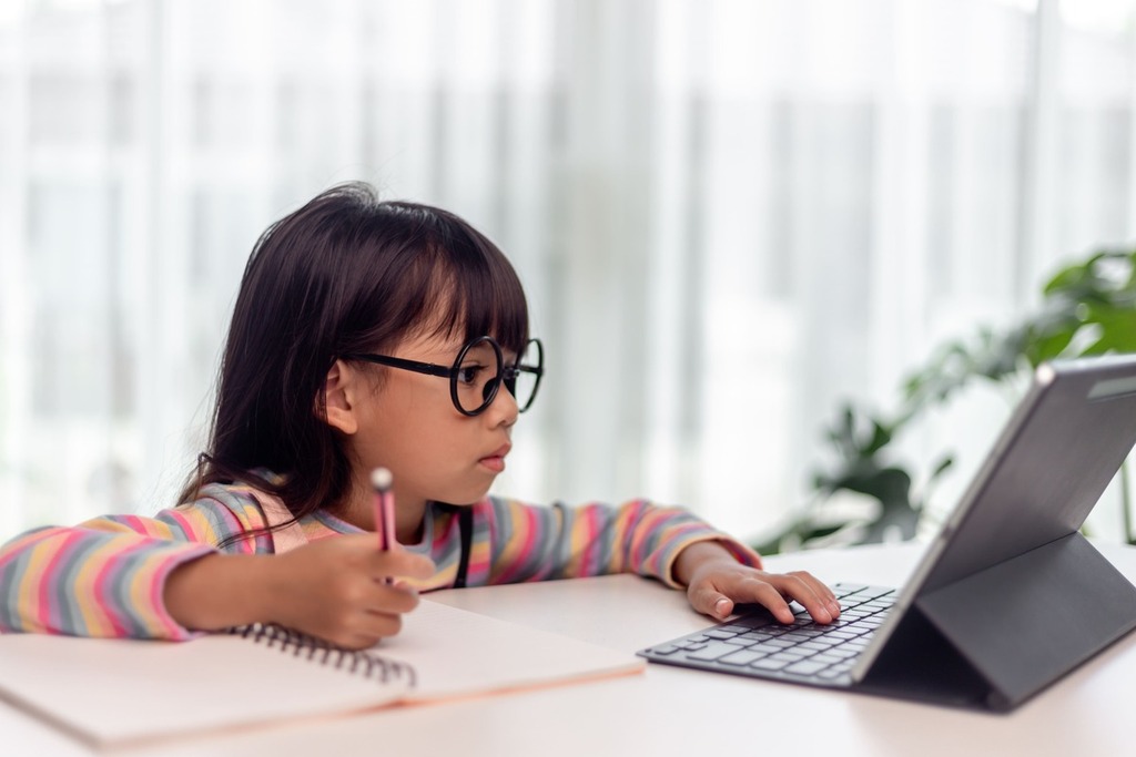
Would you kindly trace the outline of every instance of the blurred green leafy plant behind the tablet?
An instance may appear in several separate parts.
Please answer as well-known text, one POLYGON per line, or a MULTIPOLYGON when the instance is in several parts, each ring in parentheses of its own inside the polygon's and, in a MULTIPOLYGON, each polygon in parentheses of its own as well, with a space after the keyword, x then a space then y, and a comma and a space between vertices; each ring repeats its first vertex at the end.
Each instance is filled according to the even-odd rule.
MULTIPOLYGON (((843 403, 826 431, 835 454, 832 464, 812 477, 817 494, 812 504, 758 548, 771 554, 841 532, 851 533, 845 542, 855 544, 880 541, 889 533, 910 539, 953 455, 935 459, 916 493, 912 473, 895 461, 892 448, 904 429, 971 382, 993 382, 1017 396, 1016 385, 1047 360, 1109 352, 1136 352, 1136 250, 1096 251, 1054 274, 1042 289, 1038 308, 1021 321, 1004 330, 982 327, 972 337, 934 351, 927 364, 903 381, 894 413, 843 403), (841 491, 866 495, 878 507, 867 518, 833 518, 825 504, 841 491)), ((1120 482, 1124 532, 1129 544, 1136 544, 1125 468, 1120 482)))

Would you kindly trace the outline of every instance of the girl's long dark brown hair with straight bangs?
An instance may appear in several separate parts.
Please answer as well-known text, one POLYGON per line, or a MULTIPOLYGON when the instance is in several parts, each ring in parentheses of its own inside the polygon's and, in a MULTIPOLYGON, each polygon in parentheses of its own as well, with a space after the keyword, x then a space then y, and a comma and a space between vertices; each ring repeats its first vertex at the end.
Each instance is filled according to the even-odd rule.
POLYGON ((243 481, 296 519, 337 504, 350 464, 318 413, 327 371, 340 355, 383 352, 424 329, 488 334, 517 353, 528 339, 520 280, 465 220, 350 183, 269 226, 244 269, 209 449, 182 501, 243 481))

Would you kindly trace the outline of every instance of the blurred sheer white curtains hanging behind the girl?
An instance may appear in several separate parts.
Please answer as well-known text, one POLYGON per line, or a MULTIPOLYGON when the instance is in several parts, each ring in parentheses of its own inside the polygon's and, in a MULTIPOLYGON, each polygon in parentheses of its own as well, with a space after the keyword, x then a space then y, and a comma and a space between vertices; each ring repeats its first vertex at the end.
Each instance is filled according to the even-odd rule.
MULTIPOLYGON (((894 404, 1136 236, 1133 10, 0 0, 0 538, 174 504, 254 239, 364 179, 527 287, 550 372, 498 493, 758 539, 817 496, 844 398, 894 404)), ((979 385, 897 443, 955 453, 929 508, 1012 406, 979 385)))

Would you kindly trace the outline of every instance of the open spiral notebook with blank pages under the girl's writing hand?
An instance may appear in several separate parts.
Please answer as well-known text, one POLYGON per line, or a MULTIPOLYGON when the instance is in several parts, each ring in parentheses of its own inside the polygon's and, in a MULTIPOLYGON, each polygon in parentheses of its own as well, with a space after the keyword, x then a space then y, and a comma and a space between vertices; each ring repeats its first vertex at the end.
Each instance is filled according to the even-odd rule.
POLYGON ((399 636, 335 649, 277 626, 162 642, 0 634, 0 697, 95 746, 642 671, 626 651, 424 599, 399 636))

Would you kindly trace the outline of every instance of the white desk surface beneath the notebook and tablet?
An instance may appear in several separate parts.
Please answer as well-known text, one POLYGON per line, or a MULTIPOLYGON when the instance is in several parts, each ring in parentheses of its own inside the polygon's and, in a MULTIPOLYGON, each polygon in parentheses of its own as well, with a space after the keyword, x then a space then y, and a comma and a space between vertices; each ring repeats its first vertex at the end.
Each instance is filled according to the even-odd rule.
MULTIPOLYGON (((1136 548, 1099 547, 1136 580, 1136 548)), ((826 581, 894 586, 921 547, 861 547, 768 560, 826 581)), ((433 599, 628 654, 707 626, 685 596, 632 575, 465 589, 433 599)), ((2 671, 0 671, 2 675, 2 671)), ((316 723, 214 735, 160 750, 233 755, 1131 755, 1136 634, 1010 715, 987 715, 650 665, 642 675, 316 723)), ((87 755, 0 703, 0 754, 87 755)))

